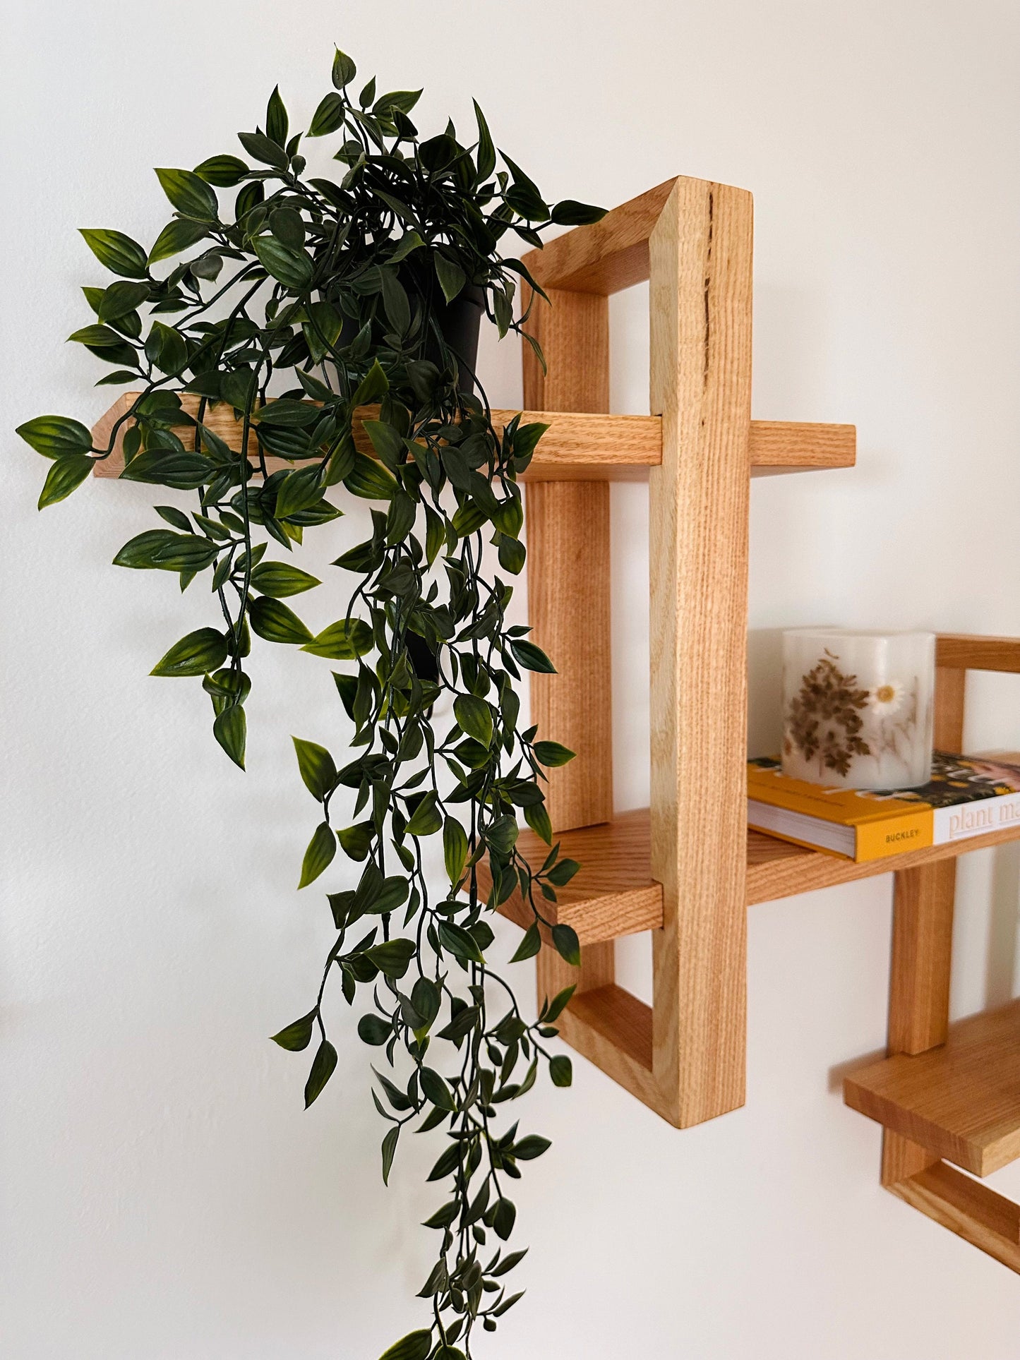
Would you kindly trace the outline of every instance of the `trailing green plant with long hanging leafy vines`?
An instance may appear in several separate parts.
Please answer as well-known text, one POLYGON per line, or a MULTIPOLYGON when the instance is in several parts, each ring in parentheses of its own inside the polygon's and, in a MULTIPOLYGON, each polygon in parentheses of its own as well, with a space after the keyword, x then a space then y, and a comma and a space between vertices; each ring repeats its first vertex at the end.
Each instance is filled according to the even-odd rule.
MULTIPOLYGON (((487 918, 520 891, 534 919, 514 960, 532 957, 548 925, 544 903, 577 865, 551 843, 543 792, 543 768, 571 752, 518 726, 521 672, 552 664, 526 627, 507 623, 513 588, 499 574, 525 563, 517 479, 544 426, 518 418, 494 427, 443 318, 475 290, 500 337, 524 335, 518 280, 544 294, 518 258, 500 256, 502 238, 514 231, 537 246, 549 223, 602 212, 549 208, 496 152, 477 105, 471 146, 453 124, 422 140, 411 121, 420 91, 377 98, 370 80, 355 99, 355 73, 337 52, 335 88, 307 132, 340 137, 339 182, 305 175, 302 135, 275 90, 265 126, 239 133, 248 160, 218 155, 156 171, 175 211, 151 250, 120 231, 83 233, 117 280, 84 288, 95 321, 71 339, 114 366, 101 384, 139 390, 102 447, 64 416, 29 420, 19 434, 52 460, 41 509, 118 445, 122 477, 194 494, 190 517, 158 505, 162 525, 114 562, 177 573, 182 590, 209 579, 215 622, 175 642, 152 673, 201 680, 215 738, 238 766, 252 634, 347 664, 333 675, 345 756, 294 738, 318 805, 298 885, 317 881, 337 849, 358 865, 356 883, 328 894, 332 944, 311 1009, 273 1038, 295 1051, 316 1040, 310 1106, 337 1062, 324 1015, 337 979, 348 1005, 369 1002, 358 1032, 386 1068, 374 1069, 373 1091, 389 1126, 384 1180, 405 1129, 443 1130, 428 1179, 449 1189, 427 1220, 439 1246, 420 1291, 431 1316, 386 1356, 457 1360, 471 1355, 477 1325, 495 1330, 520 1297, 506 1289, 524 1255, 503 1246, 515 1217, 509 1189, 520 1163, 548 1146, 515 1122, 500 1125, 500 1106, 525 1095, 541 1065, 555 1085, 571 1081, 570 1059, 545 1042, 573 989, 525 1020, 486 962, 487 918), (235 188, 231 216, 216 190, 235 188), (155 265, 185 252, 156 276, 155 265), (211 428, 218 407, 233 409, 237 438, 211 428), (271 458, 287 462, 271 472, 271 458), (313 634, 283 601, 321 582, 267 549, 272 541, 292 552, 306 530, 336 520, 326 492, 339 487, 378 507, 371 536, 335 563, 354 578, 344 609, 313 634), (487 566, 487 536, 499 571, 487 566), (549 843, 541 865, 517 849, 518 812, 549 843), (438 892, 423 858, 432 836, 445 862, 438 892)), ((578 962, 568 926, 551 938, 578 962)))

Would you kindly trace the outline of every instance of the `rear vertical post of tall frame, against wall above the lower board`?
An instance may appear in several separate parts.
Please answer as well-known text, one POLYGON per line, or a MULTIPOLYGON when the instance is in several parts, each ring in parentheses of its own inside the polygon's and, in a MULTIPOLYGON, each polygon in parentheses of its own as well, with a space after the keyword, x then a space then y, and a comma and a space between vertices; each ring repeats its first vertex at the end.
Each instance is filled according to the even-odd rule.
MULTIPOLYGON (((609 405, 609 307, 590 294, 539 299, 530 329, 543 374, 524 347, 529 408, 605 412, 609 405)), ((549 771, 555 831, 612 817, 612 666, 609 487, 605 481, 534 481, 525 496, 528 622, 556 675, 532 673, 532 722, 575 759, 549 771), (583 604, 581 604, 583 601, 583 604), (582 613, 578 613, 578 608, 582 613)))

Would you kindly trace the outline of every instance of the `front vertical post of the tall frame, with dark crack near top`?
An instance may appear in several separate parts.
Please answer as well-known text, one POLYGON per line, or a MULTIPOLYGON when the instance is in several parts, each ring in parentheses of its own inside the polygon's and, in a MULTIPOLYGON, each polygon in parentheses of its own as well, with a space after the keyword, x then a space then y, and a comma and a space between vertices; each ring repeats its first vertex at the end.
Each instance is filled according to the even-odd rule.
POLYGON ((653 1068, 687 1127, 744 1103, 751 194, 676 180, 650 271, 653 1068))

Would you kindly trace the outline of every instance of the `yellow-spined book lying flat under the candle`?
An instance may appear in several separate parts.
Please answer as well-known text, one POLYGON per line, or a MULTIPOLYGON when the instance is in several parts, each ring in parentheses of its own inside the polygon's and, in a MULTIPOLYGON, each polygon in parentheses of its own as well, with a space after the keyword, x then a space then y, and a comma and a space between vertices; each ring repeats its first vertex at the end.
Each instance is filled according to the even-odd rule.
POLYGON ((830 789, 748 762, 748 826, 858 862, 1020 827, 1020 766, 936 751, 919 789, 830 789))

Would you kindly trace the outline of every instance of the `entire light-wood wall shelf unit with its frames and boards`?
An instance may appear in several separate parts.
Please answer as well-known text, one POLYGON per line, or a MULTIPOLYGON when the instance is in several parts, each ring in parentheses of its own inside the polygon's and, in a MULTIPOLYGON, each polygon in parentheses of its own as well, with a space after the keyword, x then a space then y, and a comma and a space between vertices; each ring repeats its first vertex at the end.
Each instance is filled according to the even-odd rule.
MULTIPOLYGON (((849 468, 855 456, 853 426, 751 419, 751 194, 669 180, 526 264, 552 302, 532 314, 548 371, 524 354, 524 419, 549 426, 524 479, 529 612, 558 666, 532 676, 532 719, 577 752, 549 771, 548 808, 582 865, 548 908, 577 930, 581 967, 543 949, 539 993, 574 983, 566 1042, 670 1123, 700 1123, 744 1103, 748 906, 895 870, 892 1055, 849 1077, 846 1100, 885 1127, 889 1190, 1020 1270, 1020 1208, 947 1164, 983 1175, 1020 1155, 1020 1002, 948 1027, 955 857, 1020 827, 860 865, 747 828, 749 479, 849 468), (646 280, 653 413, 609 415, 609 294, 646 280), (651 806, 619 815, 613 480, 647 480, 650 505, 651 806), (613 941, 645 930, 650 1006, 616 985, 613 966, 613 941)), ((97 442, 131 401, 98 422, 97 442)), ((241 447, 226 407, 205 422, 241 447)), ((359 422, 355 431, 371 453, 359 422)), ((121 469, 116 450, 95 471, 121 469)), ((959 751, 966 670, 1020 672, 1020 641, 940 636, 937 665, 936 743, 959 751)), ((545 854, 529 831, 520 843, 545 854)), ((529 923, 520 898, 500 910, 529 923)))

